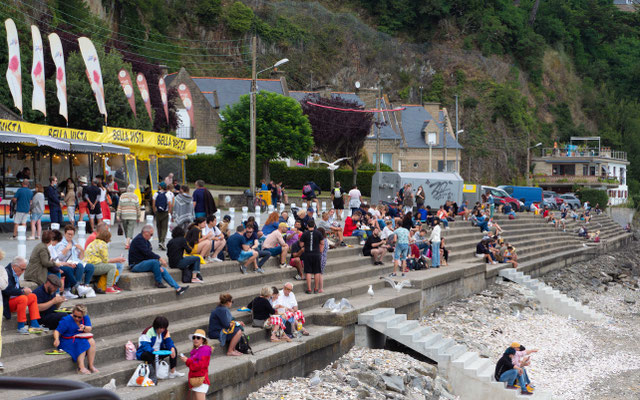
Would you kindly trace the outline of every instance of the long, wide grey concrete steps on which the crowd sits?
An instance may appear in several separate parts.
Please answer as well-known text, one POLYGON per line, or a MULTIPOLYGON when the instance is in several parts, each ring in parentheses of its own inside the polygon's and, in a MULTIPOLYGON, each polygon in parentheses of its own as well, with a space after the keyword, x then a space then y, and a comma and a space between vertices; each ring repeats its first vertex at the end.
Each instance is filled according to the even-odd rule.
MULTIPOLYGON (((592 222, 602 224, 603 238, 611 238, 612 243, 628 238, 627 233, 620 228, 614 229, 609 225, 610 220, 605 218, 594 217, 592 222)), ((583 241, 577 236, 553 229, 544 224, 541 217, 521 213, 516 220, 503 216, 497 216, 496 220, 505 230, 503 237, 517 248, 521 263, 519 270, 536 270, 556 262, 558 257, 581 257, 590 251, 582 246, 583 241)), ((118 394, 123 398, 183 399, 186 378, 161 381, 154 388, 126 388, 126 382, 138 362, 124 360, 124 345, 128 340, 137 343, 140 332, 151 325, 153 318, 164 315, 171 322, 169 330, 178 350, 187 353, 191 348, 188 335, 197 328, 207 329, 209 314, 216 307, 218 296, 230 292, 235 301, 232 314, 247 324, 246 332, 255 355, 226 357, 217 341, 213 343, 210 394, 214 398, 243 398, 271 380, 310 373, 339 357, 354 343, 353 327, 359 313, 378 307, 394 307, 418 317, 440 304, 484 289, 487 282, 495 279, 498 271, 505 267, 504 264, 487 265, 475 258, 475 245, 482 238, 482 233, 470 223, 453 222, 449 230, 443 230, 443 235, 450 251, 450 265, 410 272, 403 279, 411 280, 413 287, 399 293, 386 287, 385 282, 379 279, 393 269, 390 255, 387 255, 385 265, 373 266, 369 258, 361 255, 361 248, 354 238, 348 238, 350 247, 329 251, 324 275, 325 293, 322 294, 305 294, 304 284, 293 280, 296 271, 277 268, 276 260, 267 263, 263 275, 241 275, 237 263, 232 261, 203 265, 205 283, 192 284, 189 291, 179 298, 171 289, 153 288, 152 274, 126 271, 119 281, 119 286, 125 289, 123 293, 65 303, 69 306, 82 302, 88 306, 97 342, 96 366, 100 373, 80 376, 69 357, 44 355, 52 349, 52 335, 18 335, 14 316, 11 321, 4 321, 2 326, 4 374, 55 376, 82 380, 95 386, 115 379, 118 394), (235 309, 248 304, 263 286, 281 288, 286 281, 294 282, 294 293, 307 317, 311 336, 291 343, 271 343, 264 330, 250 327, 250 313, 235 309), (369 285, 375 291, 373 298, 367 295, 369 285), (336 300, 349 299, 355 309, 346 313, 328 313, 321 305, 332 297, 336 300)), ((176 280, 180 278, 177 270, 171 270, 171 275, 176 280)), ((181 362, 178 370, 186 372, 181 362)), ((3 393, 3 398, 23 398, 26 395, 8 392, 3 393)))

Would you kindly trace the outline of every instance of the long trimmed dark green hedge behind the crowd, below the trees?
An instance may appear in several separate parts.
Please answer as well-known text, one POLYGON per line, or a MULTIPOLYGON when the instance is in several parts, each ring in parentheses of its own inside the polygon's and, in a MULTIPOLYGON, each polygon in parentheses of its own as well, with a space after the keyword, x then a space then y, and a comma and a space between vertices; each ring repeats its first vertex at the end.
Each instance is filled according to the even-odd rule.
MULTIPOLYGON (((323 191, 331 188, 329 170, 326 168, 287 167, 284 162, 272 161, 271 178, 282 182, 287 188, 302 189, 306 181, 314 181, 323 191)), ((202 179, 206 183, 221 186, 249 186, 249 162, 234 161, 219 155, 197 154, 189 156, 185 162, 187 181, 194 182, 202 179)), ((358 171, 358 188, 364 196, 371 195, 371 179, 375 171, 358 171)), ((262 176, 262 166, 258 163, 257 176, 262 176)), ((352 171, 339 169, 335 171, 336 181, 342 183, 343 188, 350 188, 352 171)))

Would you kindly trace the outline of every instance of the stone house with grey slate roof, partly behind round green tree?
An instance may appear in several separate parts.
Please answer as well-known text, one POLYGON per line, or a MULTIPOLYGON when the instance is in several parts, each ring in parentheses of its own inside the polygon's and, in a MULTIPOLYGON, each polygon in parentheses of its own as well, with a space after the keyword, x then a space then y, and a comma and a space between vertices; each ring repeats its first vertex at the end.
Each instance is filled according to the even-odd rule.
MULTIPOLYGON (((198 153, 214 154, 222 137, 218 129, 220 112, 225 107, 240 100, 240 96, 251 91, 251 79, 217 78, 190 76, 181 68, 177 73, 165 77, 168 87, 177 87, 184 83, 191 92, 194 121, 190 121, 187 110, 178 101, 176 106, 180 116, 180 125, 176 131, 178 137, 198 140, 198 153)), ((266 90, 288 96, 287 83, 280 79, 258 79, 258 90, 266 90)))

